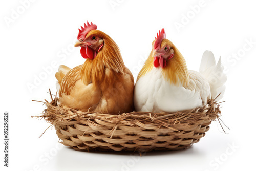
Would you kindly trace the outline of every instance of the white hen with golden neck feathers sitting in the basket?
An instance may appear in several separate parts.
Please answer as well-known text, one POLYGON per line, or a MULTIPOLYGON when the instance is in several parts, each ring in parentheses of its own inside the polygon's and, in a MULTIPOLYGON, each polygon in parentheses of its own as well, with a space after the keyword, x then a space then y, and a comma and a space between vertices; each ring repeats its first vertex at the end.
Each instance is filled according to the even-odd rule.
POLYGON ((226 75, 221 57, 216 65, 211 51, 205 51, 200 72, 187 69, 185 59, 159 31, 153 49, 141 69, 134 89, 136 111, 176 112, 206 105, 208 99, 220 100, 226 75))

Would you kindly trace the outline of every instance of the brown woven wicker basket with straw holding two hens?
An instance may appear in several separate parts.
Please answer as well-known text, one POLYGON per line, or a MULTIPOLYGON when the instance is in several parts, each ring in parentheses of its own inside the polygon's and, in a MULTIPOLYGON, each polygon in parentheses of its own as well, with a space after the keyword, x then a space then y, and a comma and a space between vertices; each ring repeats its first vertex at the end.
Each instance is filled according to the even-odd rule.
POLYGON ((205 136, 212 120, 220 116, 220 104, 176 113, 131 112, 112 115, 81 112, 46 100, 42 117, 55 126, 65 146, 78 151, 178 150, 205 136))

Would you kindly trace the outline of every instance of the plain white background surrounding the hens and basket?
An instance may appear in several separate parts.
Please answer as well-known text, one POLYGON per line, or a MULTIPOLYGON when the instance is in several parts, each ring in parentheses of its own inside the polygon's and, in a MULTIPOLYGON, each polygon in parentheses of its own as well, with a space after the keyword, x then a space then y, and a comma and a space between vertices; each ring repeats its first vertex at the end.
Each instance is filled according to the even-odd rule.
POLYGON ((256 10, 252 2, 1 1, 0 137, 3 114, 10 113, 9 167, 3 166, 1 143, 1 170, 255 169, 256 10), (49 88, 56 92, 57 66, 73 68, 84 62, 80 48, 73 44, 78 28, 87 20, 116 41, 135 78, 161 28, 189 69, 199 69, 205 50, 214 52, 216 59, 222 56, 228 81, 221 119, 231 129, 225 128, 228 134, 218 122, 212 122, 210 131, 193 147, 143 157, 77 152, 58 143, 54 128, 38 138, 50 124, 31 119, 44 110, 41 103, 31 100, 50 100, 47 92, 49 88), (178 23, 181 28, 176 27, 178 23))

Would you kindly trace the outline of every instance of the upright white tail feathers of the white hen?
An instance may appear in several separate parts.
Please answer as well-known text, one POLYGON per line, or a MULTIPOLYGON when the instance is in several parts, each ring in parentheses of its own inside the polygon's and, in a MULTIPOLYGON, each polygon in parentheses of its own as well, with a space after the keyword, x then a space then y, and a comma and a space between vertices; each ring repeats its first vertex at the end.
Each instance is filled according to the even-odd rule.
POLYGON ((221 57, 216 64, 214 54, 211 51, 205 51, 199 72, 205 76, 210 84, 211 98, 215 99, 220 93, 220 96, 216 99, 219 101, 225 92, 225 82, 227 81, 226 74, 223 73, 224 67, 221 64, 221 57))

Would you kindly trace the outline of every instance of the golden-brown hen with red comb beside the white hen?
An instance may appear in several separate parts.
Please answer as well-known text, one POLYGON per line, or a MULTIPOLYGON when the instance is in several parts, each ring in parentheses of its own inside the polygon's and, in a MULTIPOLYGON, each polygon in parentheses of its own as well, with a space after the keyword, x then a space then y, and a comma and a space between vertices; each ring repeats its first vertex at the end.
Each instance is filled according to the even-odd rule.
POLYGON ((87 60, 73 69, 59 67, 55 76, 60 102, 83 112, 132 112, 134 79, 118 46, 92 23, 81 28, 75 46, 87 60))

